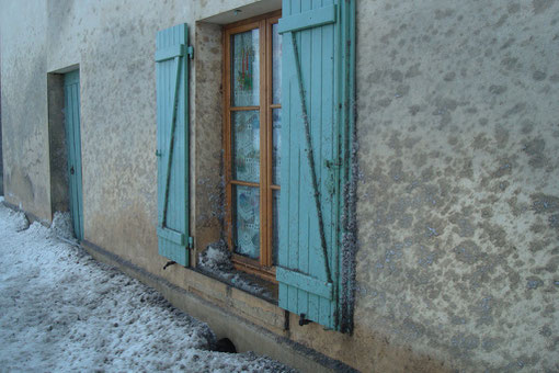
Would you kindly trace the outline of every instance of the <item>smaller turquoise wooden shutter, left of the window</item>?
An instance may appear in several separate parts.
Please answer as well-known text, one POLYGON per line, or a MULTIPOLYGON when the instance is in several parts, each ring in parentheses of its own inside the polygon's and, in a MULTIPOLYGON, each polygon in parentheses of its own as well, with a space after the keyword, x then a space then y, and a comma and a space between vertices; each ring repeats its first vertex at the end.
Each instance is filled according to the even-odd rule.
POLYGON ((162 30, 156 41, 159 253, 189 265, 187 26, 162 30))

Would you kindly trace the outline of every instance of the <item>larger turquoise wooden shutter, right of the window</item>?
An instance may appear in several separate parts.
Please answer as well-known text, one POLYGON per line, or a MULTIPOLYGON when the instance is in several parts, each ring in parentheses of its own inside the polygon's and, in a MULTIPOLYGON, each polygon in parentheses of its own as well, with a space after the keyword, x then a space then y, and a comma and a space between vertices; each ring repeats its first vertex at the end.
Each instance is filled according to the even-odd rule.
POLYGON ((353 2, 284 0, 280 306, 341 330, 341 181, 353 2), (284 140, 285 139, 285 140, 284 140))

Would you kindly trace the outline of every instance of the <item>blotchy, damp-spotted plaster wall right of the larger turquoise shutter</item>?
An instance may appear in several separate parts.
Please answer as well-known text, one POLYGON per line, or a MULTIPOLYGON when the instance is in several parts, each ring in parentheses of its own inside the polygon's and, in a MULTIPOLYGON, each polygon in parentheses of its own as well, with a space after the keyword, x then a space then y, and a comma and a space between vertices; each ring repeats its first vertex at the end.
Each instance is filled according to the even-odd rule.
POLYGON ((559 370, 558 58, 559 1, 357 1, 356 334, 559 370))

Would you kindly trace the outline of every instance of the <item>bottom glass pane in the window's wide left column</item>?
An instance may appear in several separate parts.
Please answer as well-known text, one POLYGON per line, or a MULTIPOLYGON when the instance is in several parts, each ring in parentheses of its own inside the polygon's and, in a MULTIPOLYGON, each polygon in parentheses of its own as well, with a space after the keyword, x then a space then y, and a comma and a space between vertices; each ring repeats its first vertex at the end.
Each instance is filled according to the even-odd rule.
POLYGON ((260 258, 260 192, 258 188, 233 185, 232 234, 235 252, 260 258))

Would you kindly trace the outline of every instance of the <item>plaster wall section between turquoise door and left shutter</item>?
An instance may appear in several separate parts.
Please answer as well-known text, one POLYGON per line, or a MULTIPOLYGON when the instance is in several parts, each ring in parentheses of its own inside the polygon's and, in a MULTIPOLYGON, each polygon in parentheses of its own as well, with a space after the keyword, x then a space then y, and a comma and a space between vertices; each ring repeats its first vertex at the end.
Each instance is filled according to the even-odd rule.
POLYGON ((181 22, 185 7, 157 1, 68 4, 73 9, 61 23, 82 34, 84 237, 147 267, 158 258, 155 35, 181 22))

